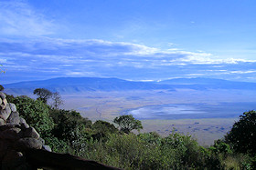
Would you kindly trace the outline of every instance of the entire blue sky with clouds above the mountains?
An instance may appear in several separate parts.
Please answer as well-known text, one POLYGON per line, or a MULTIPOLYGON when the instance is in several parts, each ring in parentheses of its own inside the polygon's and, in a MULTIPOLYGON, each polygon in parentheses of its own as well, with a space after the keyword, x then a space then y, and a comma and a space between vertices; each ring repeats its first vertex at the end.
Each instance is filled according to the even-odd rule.
POLYGON ((1 0, 0 81, 256 82, 255 11, 254 0, 1 0))

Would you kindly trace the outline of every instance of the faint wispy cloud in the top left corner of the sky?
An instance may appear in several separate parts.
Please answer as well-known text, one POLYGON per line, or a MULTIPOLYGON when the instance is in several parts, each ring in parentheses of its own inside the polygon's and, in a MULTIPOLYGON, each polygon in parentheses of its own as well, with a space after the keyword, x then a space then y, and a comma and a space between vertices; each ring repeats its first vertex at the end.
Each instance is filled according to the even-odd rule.
POLYGON ((21 1, 0 2, 0 35, 50 35, 52 21, 21 1))

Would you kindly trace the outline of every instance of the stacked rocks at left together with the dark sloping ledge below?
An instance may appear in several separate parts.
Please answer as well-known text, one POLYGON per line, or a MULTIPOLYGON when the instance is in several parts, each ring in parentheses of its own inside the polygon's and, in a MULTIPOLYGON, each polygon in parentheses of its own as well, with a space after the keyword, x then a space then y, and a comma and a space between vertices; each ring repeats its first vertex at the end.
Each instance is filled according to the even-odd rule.
POLYGON ((19 116, 16 105, 0 92, 0 170, 118 169, 78 156, 52 153, 34 127, 19 116))

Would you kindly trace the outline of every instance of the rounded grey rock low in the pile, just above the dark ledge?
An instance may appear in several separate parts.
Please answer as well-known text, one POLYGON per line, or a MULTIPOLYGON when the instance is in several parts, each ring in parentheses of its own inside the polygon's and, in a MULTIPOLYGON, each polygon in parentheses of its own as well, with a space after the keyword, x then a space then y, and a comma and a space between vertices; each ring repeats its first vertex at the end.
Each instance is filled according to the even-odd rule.
POLYGON ((21 138, 16 141, 16 144, 14 145, 14 148, 16 148, 17 151, 26 151, 27 149, 41 149, 42 143, 31 137, 21 138))

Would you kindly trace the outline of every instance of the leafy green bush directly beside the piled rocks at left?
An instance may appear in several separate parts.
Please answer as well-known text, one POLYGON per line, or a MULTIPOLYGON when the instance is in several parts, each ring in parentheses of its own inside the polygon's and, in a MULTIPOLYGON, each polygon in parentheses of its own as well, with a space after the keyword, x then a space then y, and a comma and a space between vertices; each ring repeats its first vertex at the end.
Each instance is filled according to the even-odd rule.
POLYGON ((53 129, 53 120, 49 117, 48 105, 40 100, 34 100, 27 96, 7 95, 9 103, 16 105, 17 112, 26 119, 27 124, 36 128, 40 135, 48 135, 53 129))

